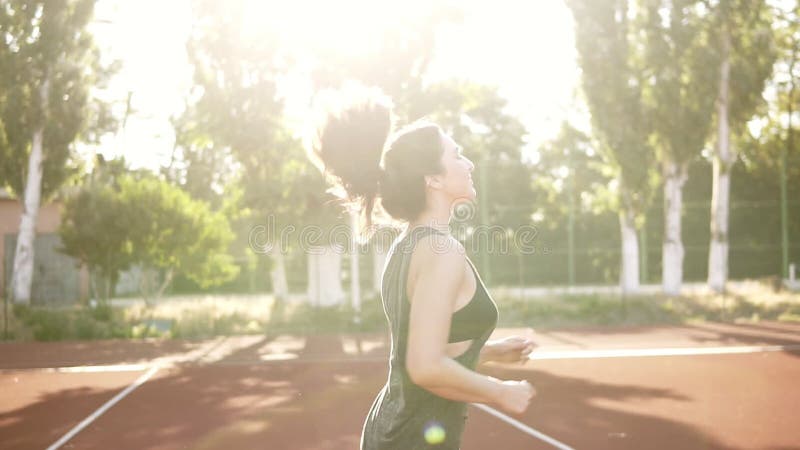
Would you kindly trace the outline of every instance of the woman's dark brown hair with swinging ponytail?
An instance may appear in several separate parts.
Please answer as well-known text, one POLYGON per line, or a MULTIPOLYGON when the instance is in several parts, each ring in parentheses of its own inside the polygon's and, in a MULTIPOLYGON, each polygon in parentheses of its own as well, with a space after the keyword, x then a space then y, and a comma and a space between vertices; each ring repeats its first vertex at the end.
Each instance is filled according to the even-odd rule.
POLYGON ((345 105, 326 107, 309 146, 312 161, 333 183, 332 192, 362 213, 362 237, 371 234, 376 206, 379 215, 382 209, 396 220, 417 218, 426 207, 425 176, 443 170, 438 125, 417 121, 391 129, 388 99, 362 91, 345 105))

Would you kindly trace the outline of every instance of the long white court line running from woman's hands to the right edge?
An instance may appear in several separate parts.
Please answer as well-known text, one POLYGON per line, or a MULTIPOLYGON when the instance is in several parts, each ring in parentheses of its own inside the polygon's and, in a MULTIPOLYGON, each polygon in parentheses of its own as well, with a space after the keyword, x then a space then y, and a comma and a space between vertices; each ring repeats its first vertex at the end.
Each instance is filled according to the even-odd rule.
POLYGON ((606 350, 569 350, 569 351, 534 351, 530 359, 582 359, 582 358, 636 358, 645 356, 698 356, 698 355, 732 355, 742 353, 783 352, 799 350, 795 345, 766 345, 742 347, 691 347, 691 348, 633 348, 606 350))

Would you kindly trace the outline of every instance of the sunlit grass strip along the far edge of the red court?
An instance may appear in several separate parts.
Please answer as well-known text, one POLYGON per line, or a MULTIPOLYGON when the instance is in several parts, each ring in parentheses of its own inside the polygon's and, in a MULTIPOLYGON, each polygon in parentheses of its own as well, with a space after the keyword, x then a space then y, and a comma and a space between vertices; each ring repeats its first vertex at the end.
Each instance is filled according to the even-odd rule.
MULTIPOLYGON (((493 290, 495 291, 495 290, 493 290)), ((800 293, 774 291, 766 283, 743 283, 727 295, 558 295, 521 299, 497 289, 501 327, 575 328, 682 324, 697 321, 800 322, 800 293)), ((270 295, 176 296, 155 305, 125 299, 113 306, 13 308, 13 340, 206 338, 264 333, 384 331, 376 297, 362 300, 361 320, 349 306, 315 308, 304 302, 276 303, 270 295)))

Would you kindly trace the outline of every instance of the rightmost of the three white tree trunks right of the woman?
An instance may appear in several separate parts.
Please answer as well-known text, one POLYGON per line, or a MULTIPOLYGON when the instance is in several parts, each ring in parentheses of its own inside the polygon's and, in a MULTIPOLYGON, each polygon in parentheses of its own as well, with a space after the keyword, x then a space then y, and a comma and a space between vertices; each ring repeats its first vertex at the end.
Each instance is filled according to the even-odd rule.
POLYGON ((723 29, 719 98, 717 98, 717 146, 711 193, 711 243, 708 250, 708 287, 716 292, 723 292, 728 280, 728 211, 731 167, 736 161, 736 155, 730 145, 728 122, 730 46, 730 34, 723 29))

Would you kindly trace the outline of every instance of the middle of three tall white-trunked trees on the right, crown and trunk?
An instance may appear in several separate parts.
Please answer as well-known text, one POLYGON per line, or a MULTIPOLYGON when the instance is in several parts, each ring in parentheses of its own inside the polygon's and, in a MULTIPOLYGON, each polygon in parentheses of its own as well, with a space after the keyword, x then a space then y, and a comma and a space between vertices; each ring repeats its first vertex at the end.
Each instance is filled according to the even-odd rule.
POLYGON ((662 286, 678 295, 683 282, 683 186, 711 128, 717 89, 716 54, 703 2, 647 0, 644 100, 664 185, 662 286))

